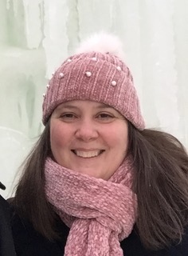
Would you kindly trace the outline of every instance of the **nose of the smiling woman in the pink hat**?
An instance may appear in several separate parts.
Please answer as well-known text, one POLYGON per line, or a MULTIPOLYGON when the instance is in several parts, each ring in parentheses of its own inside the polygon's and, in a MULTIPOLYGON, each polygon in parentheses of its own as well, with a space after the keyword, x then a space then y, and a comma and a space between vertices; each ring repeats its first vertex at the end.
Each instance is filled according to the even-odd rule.
POLYGON ((98 138, 99 134, 95 124, 91 120, 83 120, 76 127, 75 136, 84 142, 88 142, 98 138))

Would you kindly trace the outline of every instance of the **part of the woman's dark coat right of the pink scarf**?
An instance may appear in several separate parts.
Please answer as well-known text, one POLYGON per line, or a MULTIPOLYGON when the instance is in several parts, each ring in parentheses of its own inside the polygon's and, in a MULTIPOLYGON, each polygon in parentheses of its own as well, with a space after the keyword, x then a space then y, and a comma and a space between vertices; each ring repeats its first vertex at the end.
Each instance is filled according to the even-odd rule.
POLYGON ((171 245, 162 250, 147 250, 140 241, 139 234, 132 231, 128 238, 121 242, 124 255, 126 256, 187 256, 188 255, 188 227, 182 237, 182 242, 171 245))

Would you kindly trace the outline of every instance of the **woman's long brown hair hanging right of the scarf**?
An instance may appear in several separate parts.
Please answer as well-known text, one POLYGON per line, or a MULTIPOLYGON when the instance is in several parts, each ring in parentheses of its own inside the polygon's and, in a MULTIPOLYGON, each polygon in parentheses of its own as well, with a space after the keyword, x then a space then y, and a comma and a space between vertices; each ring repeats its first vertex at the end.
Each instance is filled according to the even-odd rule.
POLYGON ((129 125, 138 197, 136 227, 144 246, 181 242, 188 224, 188 155, 174 136, 129 125))

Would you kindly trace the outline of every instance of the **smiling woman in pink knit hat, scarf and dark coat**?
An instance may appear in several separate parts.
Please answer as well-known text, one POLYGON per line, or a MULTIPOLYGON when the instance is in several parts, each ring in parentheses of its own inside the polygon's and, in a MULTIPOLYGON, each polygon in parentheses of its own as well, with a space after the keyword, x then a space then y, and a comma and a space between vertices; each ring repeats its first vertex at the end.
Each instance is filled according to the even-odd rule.
POLYGON ((117 49, 94 36, 47 86, 11 203, 18 255, 188 255, 186 150, 145 129, 117 49))

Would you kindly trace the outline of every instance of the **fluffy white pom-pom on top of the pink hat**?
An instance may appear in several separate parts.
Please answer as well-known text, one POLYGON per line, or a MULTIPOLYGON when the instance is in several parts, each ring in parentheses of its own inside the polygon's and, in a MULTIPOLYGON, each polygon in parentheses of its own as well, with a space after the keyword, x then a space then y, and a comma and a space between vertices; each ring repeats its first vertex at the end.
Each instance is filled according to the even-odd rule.
POLYGON ((124 58, 122 42, 115 34, 107 34, 104 32, 92 34, 92 36, 80 43, 76 54, 91 51, 100 52, 102 54, 109 53, 119 58, 124 58))

